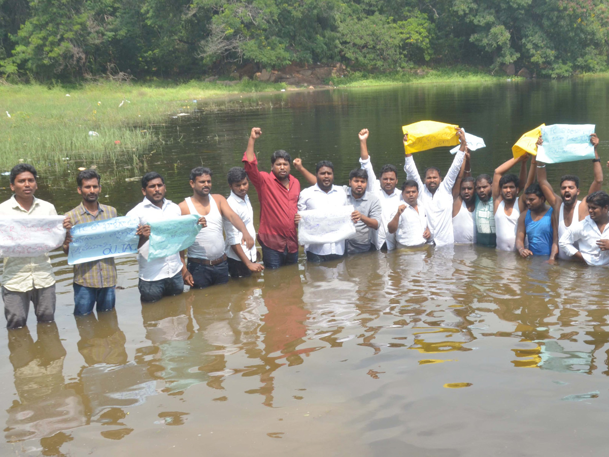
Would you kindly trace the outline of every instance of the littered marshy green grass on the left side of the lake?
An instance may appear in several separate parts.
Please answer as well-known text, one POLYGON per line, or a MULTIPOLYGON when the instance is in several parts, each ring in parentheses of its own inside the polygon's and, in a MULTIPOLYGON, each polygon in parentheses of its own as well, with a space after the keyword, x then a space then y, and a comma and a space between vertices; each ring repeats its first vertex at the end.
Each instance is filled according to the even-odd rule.
POLYGON ((124 155, 133 155, 135 162, 138 152, 152 143, 162 143, 158 122, 167 117, 197 109, 234 107, 227 101, 203 103, 214 97, 283 87, 253 81, 233 86, 159 81, 69 88, 0 85, 0 171, 10 170, 19 161, 56 171, 67 168, 70 162, 89 166, 124 155), (99 135, 90 136, 90 131, 99 135))

